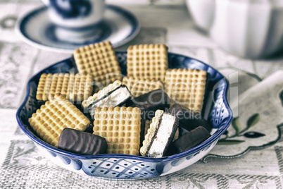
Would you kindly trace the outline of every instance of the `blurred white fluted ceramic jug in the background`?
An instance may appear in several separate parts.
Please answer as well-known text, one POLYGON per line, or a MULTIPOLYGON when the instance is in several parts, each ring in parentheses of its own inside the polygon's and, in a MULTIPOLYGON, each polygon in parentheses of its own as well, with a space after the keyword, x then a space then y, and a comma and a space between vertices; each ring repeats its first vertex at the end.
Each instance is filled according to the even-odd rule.
POLYGON ((187 0, 196 25, 222 49, 258 59, 283 49, 282 0, 187 0))

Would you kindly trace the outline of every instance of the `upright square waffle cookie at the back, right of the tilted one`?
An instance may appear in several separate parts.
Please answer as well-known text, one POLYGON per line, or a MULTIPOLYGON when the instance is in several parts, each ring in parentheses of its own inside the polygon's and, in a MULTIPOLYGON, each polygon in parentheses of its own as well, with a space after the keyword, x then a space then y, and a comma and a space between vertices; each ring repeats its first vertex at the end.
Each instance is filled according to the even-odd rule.
POLYGON ((168 68, 165 44, 139 44, 127 49, 127 76, 164 82, 168 68))

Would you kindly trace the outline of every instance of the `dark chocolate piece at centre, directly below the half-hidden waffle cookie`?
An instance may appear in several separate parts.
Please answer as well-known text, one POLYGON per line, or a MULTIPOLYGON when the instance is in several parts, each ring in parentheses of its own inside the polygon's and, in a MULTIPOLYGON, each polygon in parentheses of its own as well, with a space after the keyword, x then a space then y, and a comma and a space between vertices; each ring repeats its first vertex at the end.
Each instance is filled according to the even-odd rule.
POLYGON ((153 90, 131 99, 126 106, 138 107, 144 111, 145 119, 152 119, 156 110, 165 111, 170 106, 170 98, 163 90, 153 90))

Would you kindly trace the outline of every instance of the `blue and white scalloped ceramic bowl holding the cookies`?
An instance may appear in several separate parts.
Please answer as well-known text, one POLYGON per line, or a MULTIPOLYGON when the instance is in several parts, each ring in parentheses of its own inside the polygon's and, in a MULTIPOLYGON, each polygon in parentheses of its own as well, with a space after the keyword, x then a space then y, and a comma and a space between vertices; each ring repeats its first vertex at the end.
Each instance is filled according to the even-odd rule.
MULTIPOLYGON (((122 73, 126 75, 127 53, 117 52, 116 54, 122 68, 122 73)), ((59 150, 37 138, 32 128, 30 128, 28 118, 39 109, 39 103, 35 96, 40 75, 42 73, 68 73, 76 71, 73 66, 73 59, 71 58, 49 66, 30 79, 27 83, 25 100, 16 115, 17 121, 23 132, 34 141, 34 144, 46 158, 70 171, 84 173, 89 176, 115 179, 153 178, 179 171, 194 164, 194 162, 201 159, 215 146, 220 135, 227 130, 232 121, 232 111, 227 103, 229 83, 218 71, 201 61, 178 54, 169 53, 168 62, 169 68, 197 68, 205 70, 210 74, 210 81, 208 83, 209 95, 208 102, 206 102, 205 116, 213 125, 211 137, 186 152, 163 158, 139 157, 126 154, 87 156, 59 150)))

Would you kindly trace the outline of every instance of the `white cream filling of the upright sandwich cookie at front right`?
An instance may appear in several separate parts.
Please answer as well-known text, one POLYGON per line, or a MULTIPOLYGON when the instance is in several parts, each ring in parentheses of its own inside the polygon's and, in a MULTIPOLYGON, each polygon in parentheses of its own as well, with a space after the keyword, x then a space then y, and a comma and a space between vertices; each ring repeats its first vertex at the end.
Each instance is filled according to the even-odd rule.
POLYGON ((174 123, 175 116, 172 116, 170 114, 163 114, 161 125, 149 149, 149 157, 162 157, 162 154, 172 133, 174 123))

